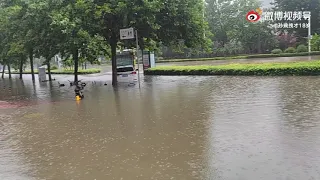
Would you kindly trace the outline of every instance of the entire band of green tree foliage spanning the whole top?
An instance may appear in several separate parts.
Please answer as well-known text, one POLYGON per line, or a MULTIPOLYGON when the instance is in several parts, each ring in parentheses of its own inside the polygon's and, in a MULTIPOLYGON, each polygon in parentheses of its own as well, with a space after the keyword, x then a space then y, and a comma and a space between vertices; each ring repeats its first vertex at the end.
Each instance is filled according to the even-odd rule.
MULTIPOLYGON (((135 47, 120 41, 119 30, 133 27, 143 50, 162 49, 179 58, 273 55, 306 51, 306 29, 279 34, 268 22, 249 23, 246 13, 258 0, 0 0, 0 63, 21 72, 34 58, 48 66, 57 54, 74 71, 82 63, 111 57, 116 82, 116 50, 135 47), (300 45, 300 46, 299 46, 300 45)), ((275 0, 275 10, 312 12, 312 50, 319 51, 318 0, 275 0), (318 33, 318 34, 317 34, 318 33)), ((170 54, 169 53, 169 54, 170 54)), ((163 55, 166 56, 165 54, 163 55)))

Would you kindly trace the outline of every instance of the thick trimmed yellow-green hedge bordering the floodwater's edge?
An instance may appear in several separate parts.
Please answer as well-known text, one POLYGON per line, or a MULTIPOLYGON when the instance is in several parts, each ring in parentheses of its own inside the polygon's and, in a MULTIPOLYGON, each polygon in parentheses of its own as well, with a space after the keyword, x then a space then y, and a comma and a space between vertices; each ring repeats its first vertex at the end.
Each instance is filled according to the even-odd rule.
POLYGON ((229 64, 218 66, 161 66, 146 75, 314 76, 320 75, 320 60, 287 63, 229 64))

